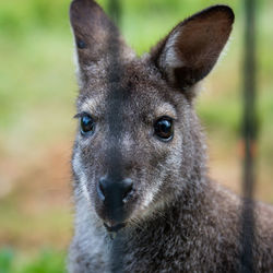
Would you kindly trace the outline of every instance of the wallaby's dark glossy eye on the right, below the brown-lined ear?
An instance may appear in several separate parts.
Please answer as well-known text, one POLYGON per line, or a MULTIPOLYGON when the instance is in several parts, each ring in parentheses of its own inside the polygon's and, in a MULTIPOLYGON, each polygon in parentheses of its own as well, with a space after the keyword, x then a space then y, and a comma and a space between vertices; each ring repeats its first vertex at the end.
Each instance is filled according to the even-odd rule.
POLYGON ((162 117, 154 123, 154 132, 163 141, 169 141, 174 135, 173 119, 169 117, 162 117))

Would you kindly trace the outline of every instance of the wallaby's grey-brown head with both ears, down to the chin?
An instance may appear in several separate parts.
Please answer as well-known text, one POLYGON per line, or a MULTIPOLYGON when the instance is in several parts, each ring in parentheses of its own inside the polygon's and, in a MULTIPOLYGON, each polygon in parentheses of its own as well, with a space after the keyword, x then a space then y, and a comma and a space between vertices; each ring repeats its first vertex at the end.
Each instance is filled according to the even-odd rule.
POLYGON ((74 0, 70 17, 80 85, 76 199, 108 229, 118 229, 202 183, 195 84, 216 63, 234 13, 211 7, 179 23, 142 58, 94 1, 74 0))

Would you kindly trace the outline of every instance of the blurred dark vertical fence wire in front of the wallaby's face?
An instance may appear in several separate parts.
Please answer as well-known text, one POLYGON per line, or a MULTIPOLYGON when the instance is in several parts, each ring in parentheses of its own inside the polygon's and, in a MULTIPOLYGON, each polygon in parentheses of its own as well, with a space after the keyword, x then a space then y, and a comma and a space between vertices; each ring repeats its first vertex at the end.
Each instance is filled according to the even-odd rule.
MULTIPOLYGON (((121 4, 119 0, 108 1, 108 11, 115 24, 119 27, 121 22, 121 4)), ((116 143, 120 138, 122 131, 122 117, 121 117, 121 106, 127 98, 128 92, 121 88, 121 82, 123 70, 120 64, 120 54, 121 48, 119 40, 117 40, 118 33, 114 29, 108 36, 108 47, 110 52, 110 61, 107 69, 108 74, 108 114, 107 119, 110 124, 110 134, 114 135, 109 141, 111 143, 111 149, 107 153, 107 162, 110 166, 110 176, 114 180, 121 179, 122 173, 122 156, 120 154, 119 147, 116 143)), ((115 197, 115 191, 112 192, 114 207, 119 205, 119 201, 115 197)), ((120 212, 112 211, 111 214, 116 218, 121 218, 120 212), (118 215, 119 214, 119 215, 118 215)), ((111 273, 122 273, 123 272, 123 249, 122 249, 122 233, 112 234, 112 247, 110 249, 110 272, 111 273), (115 237, 115 238, 114 238, 115 237)))

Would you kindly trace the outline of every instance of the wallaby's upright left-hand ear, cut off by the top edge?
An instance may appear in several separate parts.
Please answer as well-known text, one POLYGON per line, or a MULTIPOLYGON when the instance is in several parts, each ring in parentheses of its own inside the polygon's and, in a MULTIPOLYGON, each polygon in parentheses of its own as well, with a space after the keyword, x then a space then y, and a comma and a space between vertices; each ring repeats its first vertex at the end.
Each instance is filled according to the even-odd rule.
POLYGON ((93 0, 73 0, 70 22, 81 72, 124 46, 118 28, 93 0))

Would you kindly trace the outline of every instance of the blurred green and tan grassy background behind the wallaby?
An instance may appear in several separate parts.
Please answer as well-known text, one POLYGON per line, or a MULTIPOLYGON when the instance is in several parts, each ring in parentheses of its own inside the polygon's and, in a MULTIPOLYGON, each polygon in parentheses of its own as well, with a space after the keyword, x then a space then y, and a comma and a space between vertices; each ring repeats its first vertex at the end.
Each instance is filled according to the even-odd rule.
MULTIPOLYGON (((98 1, 107 9, 107 1, 98 1)), ((244 2, 226 55, 197 108, 210 173, 240 192, 244 2)), ((121 29, 139 55, 215 0, 122 0, 121 29)), ((78 88, 68 0, 0 2, 0 273, 64 272, 72 235, 70 155, 78 88)), ((256 198, 273 203, 273 2, 259 0, 256 198)))

